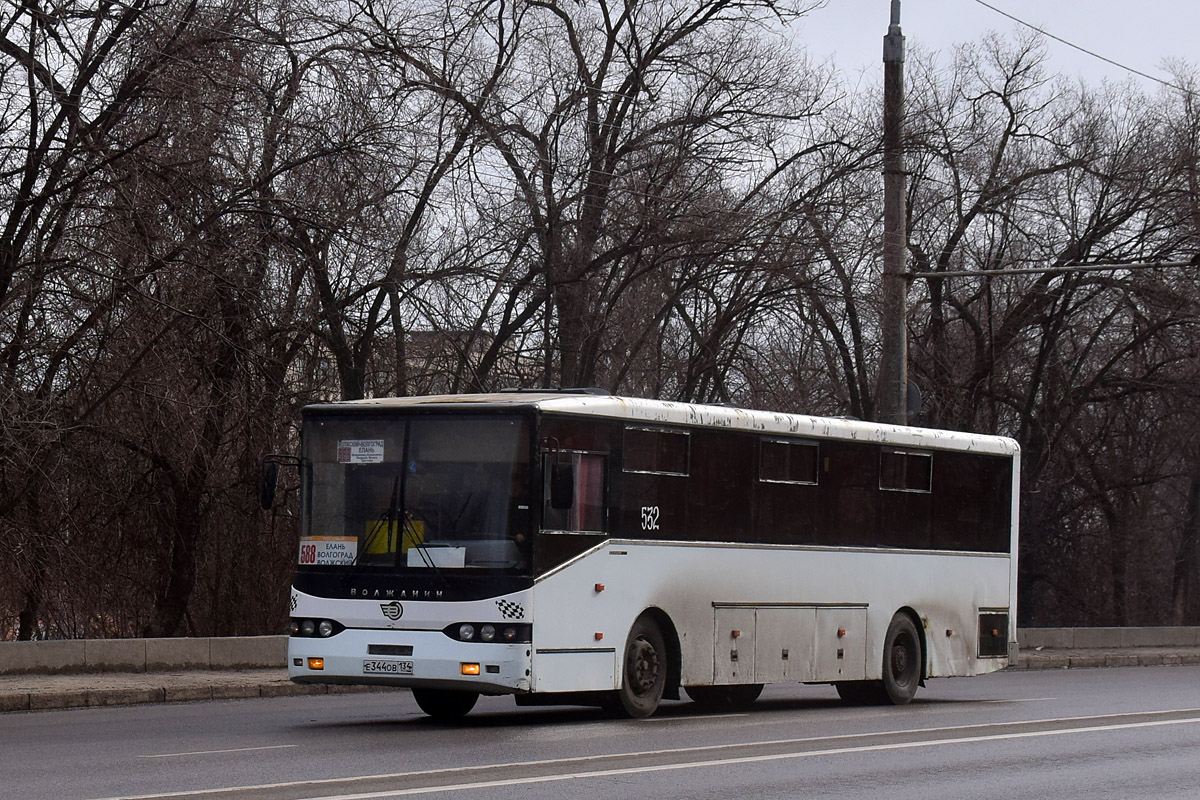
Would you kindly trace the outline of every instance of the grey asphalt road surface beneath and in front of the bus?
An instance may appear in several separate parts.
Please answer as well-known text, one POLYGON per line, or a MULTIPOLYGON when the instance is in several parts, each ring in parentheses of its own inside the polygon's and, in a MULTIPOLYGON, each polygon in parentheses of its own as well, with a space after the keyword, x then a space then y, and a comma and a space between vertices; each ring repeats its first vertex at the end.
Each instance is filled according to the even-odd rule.
POLYGON ((18 712, 0 796, 1200 796, 1200 667, 935 680, 905 708, 769 687, 745 712, 644 721, 482 698, 460 724, 407 692, 18 712))

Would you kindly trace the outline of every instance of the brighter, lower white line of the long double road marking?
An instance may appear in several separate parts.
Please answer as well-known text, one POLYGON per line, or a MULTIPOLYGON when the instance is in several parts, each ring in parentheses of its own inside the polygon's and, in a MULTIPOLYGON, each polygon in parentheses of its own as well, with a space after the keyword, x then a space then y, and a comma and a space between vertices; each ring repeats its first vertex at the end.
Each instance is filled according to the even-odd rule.
POLYGON ((647 772, 667 772, 676 770, 702 769, 706 766, 734 766, 740 764, 761 764, 763 762, 782 762, 818 756, 845 756, 850 753, 870 753, 889 750, 914 750, 919 747, 941 747, 944 745, 978 744, 985 741, 1003 741, 1010 739, 1033 739, 1039 736, 1064 736, 1082 733, 1108 733, 1111 730, 1130 730, 1136 728, 1157 728, 1175 724, 1198 724, 1200 717, 1188 720, 1157 720, 1153 722, 1123 722, 1121 724, 1091 726, 1087 728, 1064 728, 1061 730, 1028 730, 1024 733, 998 733, 989 736, 964 736, 960 739, 928 739, 924 741, 904 741, 887 745, 863 745, 860 747, 835 747, 830 750, 810 750, 803 753, 772 753, 767 756, 742 756, 738 758, 719 758, 707 762, 685 762, 680 764, 653 764, 648 766, 626 766, 620 769, 595 770, 589 772, 569 772, 564 775, 540 775, 496 781, 475 781, 473 783, 451 783, 443 786, 422 786, 409 789, 390 789, 383 792, 364 792, 359 794, 319 794, 299 800, 386 800, 388 798, 409 798, 419 794, 437 794, 439 792, 462 792, 473 789, 494 789, 509 786, 528 786, 530 783, 554 783, 583 778, 618 777, 643 775, 647 772))

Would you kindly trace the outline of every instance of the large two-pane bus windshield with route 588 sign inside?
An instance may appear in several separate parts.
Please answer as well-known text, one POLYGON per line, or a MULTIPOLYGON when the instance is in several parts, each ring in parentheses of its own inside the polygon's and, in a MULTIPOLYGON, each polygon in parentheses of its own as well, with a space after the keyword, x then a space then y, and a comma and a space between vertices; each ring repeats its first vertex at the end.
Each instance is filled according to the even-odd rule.
POLYGON ((310 415, 300 567, 523 570, 520 417, 310 415))

